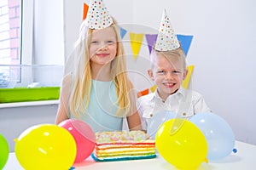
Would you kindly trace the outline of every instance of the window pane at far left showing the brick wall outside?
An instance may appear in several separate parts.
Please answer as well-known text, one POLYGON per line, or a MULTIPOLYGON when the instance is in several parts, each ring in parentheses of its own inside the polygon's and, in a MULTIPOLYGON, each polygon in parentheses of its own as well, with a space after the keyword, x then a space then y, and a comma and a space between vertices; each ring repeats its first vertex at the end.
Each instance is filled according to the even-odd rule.
POLYGON ((13 87, 19 79, 19 71, 12 65, 20 65, 20 3, 0 2, 0 88, 13 87))

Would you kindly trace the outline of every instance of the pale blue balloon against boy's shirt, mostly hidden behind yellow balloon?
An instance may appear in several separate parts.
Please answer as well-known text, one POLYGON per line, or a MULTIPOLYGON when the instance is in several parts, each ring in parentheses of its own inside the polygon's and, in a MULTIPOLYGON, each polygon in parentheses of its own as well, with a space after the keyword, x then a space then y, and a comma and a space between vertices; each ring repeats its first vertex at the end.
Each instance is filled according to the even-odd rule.
POLYGON ((175 118, 175 116, 176 114, 171 111, 159 111, 155 113, 148 122, 147 133, 155 139, 155 133, 160 125, 172 118, 175 118))

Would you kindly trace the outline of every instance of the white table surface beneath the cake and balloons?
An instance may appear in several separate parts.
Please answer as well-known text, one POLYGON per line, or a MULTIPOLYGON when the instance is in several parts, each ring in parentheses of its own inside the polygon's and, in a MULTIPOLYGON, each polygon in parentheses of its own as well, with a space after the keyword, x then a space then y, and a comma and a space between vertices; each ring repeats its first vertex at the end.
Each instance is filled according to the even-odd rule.
MULTIPOLYGON (((235 148, 236 154, 231 153, 230 156, 226 156, 218 161, 203 162, 198 170, 227 170, 227 169, 255 169, 256 167, 256 145, 246 144, 240 141, 236 141, 235 148)), ((133 161, 104 161, 96 162, 91 157, 88 159, 74 164, 75 170, 85 169, 111 169, 111 170, 134 170, 134 169, 176 169, 170 163, 165 161, 160 156, 154 159, 133 160, 133 161)), ((23 170, 17 161, 15 153, 9 154, 9 159, 3 167, 3 170, 23 170)), ((35 168, 36 169, 36 168, 35 168)))

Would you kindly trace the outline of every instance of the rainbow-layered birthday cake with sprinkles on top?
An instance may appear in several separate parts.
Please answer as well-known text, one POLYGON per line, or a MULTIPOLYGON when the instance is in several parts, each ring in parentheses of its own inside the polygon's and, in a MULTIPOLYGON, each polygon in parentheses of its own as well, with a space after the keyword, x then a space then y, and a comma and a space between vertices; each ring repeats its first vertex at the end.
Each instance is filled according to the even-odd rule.
POLYGON ((123 161, 154 158, 155 143, 143 131, 96 133, 95 161, 123 161))

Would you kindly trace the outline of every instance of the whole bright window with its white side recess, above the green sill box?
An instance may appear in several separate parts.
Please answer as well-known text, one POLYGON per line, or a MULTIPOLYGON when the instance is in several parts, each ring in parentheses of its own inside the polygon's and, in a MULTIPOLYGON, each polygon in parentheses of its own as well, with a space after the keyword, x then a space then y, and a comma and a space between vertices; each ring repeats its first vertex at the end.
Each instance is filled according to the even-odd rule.
POLYGON ((1 0, 0 88, 58 87, 63 65, 63 1, 1 0))

